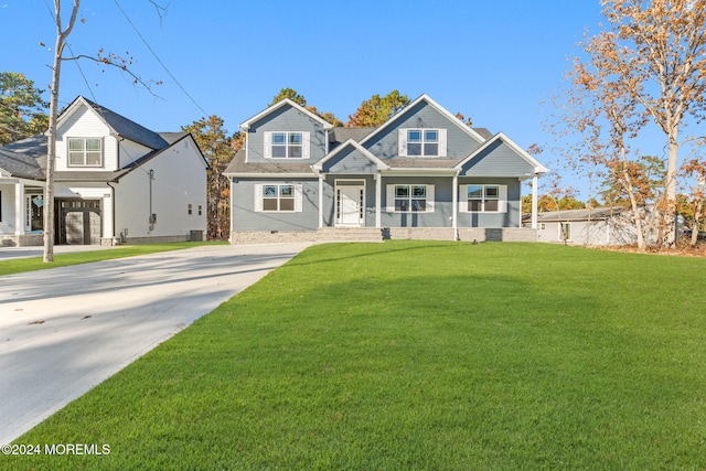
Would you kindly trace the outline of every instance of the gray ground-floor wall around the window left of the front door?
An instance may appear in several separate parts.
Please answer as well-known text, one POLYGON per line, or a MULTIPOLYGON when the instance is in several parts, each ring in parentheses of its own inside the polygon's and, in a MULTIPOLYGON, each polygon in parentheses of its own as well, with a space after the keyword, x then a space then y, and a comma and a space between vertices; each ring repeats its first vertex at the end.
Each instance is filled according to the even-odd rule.
MULTIPOLYGON (((319 226, 319 181, 292 179, 238 179, 232 185, 231 226, 243 231, 315 231, 319 226), (290 183, 302 185, 300 213, 255 212, 255 185, 258 183, 290 183)), ((331 197, 328 195, 327 197, 331 197)))

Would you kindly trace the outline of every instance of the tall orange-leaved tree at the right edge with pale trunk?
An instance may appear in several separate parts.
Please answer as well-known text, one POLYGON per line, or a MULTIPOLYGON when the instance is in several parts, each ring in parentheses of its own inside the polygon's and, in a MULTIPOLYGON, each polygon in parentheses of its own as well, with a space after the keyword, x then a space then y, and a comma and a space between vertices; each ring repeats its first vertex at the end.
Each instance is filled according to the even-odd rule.
POLYGON ((584 44, 591 73, 609 73, 664 133, 664 242, 674 243, 680 132, 706 101, 706 0, 601 0, 608 30, 584 44))

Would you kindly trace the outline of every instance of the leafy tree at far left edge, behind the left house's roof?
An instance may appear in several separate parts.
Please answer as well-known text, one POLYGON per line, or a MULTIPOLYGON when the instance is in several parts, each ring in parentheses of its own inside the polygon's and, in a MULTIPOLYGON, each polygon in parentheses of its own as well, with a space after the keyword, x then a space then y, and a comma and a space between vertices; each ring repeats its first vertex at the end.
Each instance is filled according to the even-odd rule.
POLYGON ((0 146, 42 133, 49 126, 44 90, 17 72, 0 73, 0 146))

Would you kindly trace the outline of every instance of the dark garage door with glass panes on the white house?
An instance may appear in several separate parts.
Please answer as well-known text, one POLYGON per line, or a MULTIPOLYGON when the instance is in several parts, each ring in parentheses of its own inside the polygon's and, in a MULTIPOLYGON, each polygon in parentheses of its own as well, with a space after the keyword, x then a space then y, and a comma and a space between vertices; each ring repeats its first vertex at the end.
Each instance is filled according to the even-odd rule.
POLYGON ((100 245, 99 200, 65 200, 58 206, 60 244, 100 245))

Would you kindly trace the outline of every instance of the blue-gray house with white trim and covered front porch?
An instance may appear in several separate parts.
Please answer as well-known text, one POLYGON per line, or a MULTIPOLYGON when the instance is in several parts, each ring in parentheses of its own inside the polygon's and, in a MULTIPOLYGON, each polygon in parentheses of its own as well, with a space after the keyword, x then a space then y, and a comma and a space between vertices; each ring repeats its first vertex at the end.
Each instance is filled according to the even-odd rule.
POLYGON ((547 169, 427 95, 375 129, 334 128, 289 99, 240 129, 245 146, 225 172, 232 243, 335 234, 536 240, 522 227, 521 188, 530 179, 536 189, 547 169))

